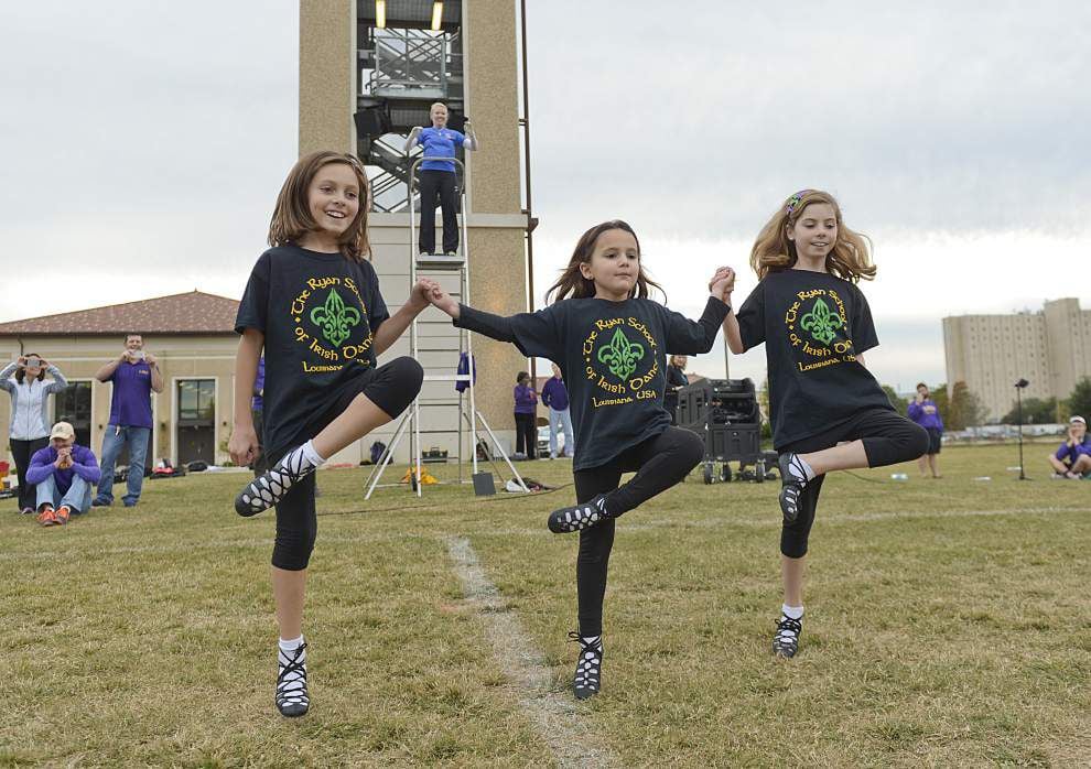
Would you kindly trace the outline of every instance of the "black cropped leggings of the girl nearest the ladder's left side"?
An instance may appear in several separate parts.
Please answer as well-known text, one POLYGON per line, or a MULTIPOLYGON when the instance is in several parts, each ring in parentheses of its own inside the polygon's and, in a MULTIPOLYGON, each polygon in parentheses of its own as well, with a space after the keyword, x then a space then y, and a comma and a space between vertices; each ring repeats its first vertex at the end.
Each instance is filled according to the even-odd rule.
MULTIPOLYGON (((356 386, 346 388, 337 400, 322 412, 312 424, 311 436, 343 414, 356 396, 364 393, 390 419, 395 419, 413 402, 421 390, 424 371, 412 358, 396 358, 385 366, 368 369, 360 375, 356 386)), ((302 443, 302 441, 301 441, 302 443)), ((271 467, 295 446, 288 446, 267 455, 271 467)), ((272 564, 277 568, 299 572, 306 568, 314 551, 314 538, 318 521, 314 511, 314 473, 293 486, 277 506, 277 540, 273 543, 272 564)))

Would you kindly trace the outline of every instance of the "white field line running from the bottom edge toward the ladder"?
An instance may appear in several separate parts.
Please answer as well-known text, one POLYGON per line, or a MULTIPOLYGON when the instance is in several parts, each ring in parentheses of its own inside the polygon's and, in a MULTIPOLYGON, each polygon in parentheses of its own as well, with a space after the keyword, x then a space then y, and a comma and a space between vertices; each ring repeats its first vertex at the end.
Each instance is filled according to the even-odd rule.
POLYGON ((466 599, 477 609, 497 661, 515 682, 520 706, 538 726, 558 765, 617 766, 617 757, 586 727, 586 712, 576 707, 572 694, 550 691, 550 672, 544 657, 523 630, 518 616, 508 608, 496 585, 485 576, 469 541, 463 537, 447 537, 445 541, 466 599))

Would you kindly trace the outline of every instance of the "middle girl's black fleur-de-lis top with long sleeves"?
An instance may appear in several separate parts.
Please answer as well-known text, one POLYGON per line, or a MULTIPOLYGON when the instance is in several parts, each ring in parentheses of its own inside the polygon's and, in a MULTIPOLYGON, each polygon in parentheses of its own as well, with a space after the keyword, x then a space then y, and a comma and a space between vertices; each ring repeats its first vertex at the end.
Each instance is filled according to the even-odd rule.
POLYGON ((549 358, 569 388, 574 469, 599 467, 663 432, 667 350, 707 353, 727 315, 710 297, 700 321, 647 299, 568 299, 536 313, 500 317, 462 306, 455 325, 514 342, 523 355, 549 358))

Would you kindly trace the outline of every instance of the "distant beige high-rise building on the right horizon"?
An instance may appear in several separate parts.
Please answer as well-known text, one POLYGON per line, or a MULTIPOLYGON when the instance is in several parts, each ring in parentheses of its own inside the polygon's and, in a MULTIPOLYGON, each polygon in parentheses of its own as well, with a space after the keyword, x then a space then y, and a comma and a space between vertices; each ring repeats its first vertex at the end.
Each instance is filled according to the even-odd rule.
POLYGON ((1025 398, 1063 400, 1091 376, 1091 310, 1059 299, 1037 313, 944 317, 943 351, 948 387, 964 381, 997 420, 1011 411, 1019 379, 1030 382, 1025 398))

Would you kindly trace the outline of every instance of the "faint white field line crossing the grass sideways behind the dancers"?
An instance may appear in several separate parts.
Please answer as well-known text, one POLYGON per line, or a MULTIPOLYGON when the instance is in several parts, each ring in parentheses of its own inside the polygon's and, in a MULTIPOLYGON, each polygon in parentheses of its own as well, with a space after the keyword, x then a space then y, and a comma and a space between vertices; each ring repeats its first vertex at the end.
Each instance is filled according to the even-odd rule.
MULTIPOLYGON (((917 512, 861 512, 861 513, 844 513, 844 515, 830 515, 823 516, 819 511, 815 522, 822 523, 852 523, 860 522, 866 523, 872 521, 888 521, 888 520, 917 520, 925 518, 976 518, 976 517, 994 517, 994 516, 1039 516, 1039 515, 1050 515, 1050 513, 1061 513, 1061 512, 1083 512, 1083 508, 1077 507, 1041 507, 1041 508, 1024 508, 1022 510, 933 510, 933 511, 917 511, 917 512)), ((634 510, 633 512, 626 513, 619 519, 619 527, 622 531, 652 531, 660 530, 665 528, 677 528, 677 529, 721 529, 732 526, 748 526, 756 528, 779 528, 780 527, 780 511, 770 506, 768 517, 763 518, 732 518, 730 510, 725 511, 723 517, 705 519, 699 521, 685 521, 680 520, 674 516, 668 516, 666 518, 651 518, 649 513, 655 515, 655 510, 651 508, 645 510, 634 510)), ((69 524, 73 526, 73 524, 69 524)), ((37 531, 36 527, 31 527, 30 531, 37 531)), ((542 539, 553 540, 558 535, 551 534, 549 531, 541 527, 537 527, 537 522, 533 527, 526 526, 521 528, 493 528, 477 529, 473 526, 467 526, 463 531, 472 534, 484 534, 484 535, 501 535, 501 537, 541 537, 542 539)), ((50 534, 52 535, 52 534, 50 534)), ((432 534, 421 534, 415 532, 384 532, 376 534, 323 534, 321 528, 318 531, 318 548, 322 546, 323 537, 325 537, 325 542, 328 544, 339 544, 339 543, 352 543, 352 542, 396 542, 398 540, 414 540, 414 539, 431 539, 432 534)), ((180 542, 172 544, 142 544, 142 545, 122 545, 116 548, 96 548, 93 555, 98 559, 106 555, 140 555, 142 553, 176 553, 179 551, 185 550, 187 552, 192 551, 215 551, 215 550, 234 550, 237 548, 257 548, 257 549, 272 549, 272 537, 268 538, 242 538, 242 539, 224 539, 217 540, 215 542, 180 542)), ((65 548, 63 550, 33 550, 30 552, 19 552, 19 551, 0 551, 0 563, 4 561, 39 561, 39 560, 51 560, 56 557, 69 557, 69 559, 85 559, 91 553, 85 550, 72 550, 65 548)))

